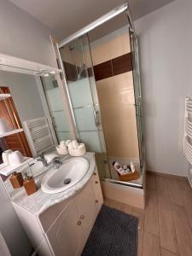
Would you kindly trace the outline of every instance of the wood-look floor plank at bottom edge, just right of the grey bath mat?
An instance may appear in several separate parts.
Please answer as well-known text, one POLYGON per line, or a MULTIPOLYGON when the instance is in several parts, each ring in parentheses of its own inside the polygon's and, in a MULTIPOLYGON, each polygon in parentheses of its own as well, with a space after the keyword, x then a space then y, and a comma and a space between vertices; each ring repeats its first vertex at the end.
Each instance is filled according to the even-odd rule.
POLYGON ((160 256, 160 237, 144 232, 143 256, 160 256))

